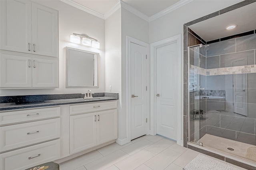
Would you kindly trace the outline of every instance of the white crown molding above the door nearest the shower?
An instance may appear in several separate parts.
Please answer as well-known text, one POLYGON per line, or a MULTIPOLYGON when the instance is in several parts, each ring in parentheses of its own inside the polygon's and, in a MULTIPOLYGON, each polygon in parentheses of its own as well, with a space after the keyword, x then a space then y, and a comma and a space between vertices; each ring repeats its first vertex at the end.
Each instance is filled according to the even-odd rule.
POLYGON ((174 4, 172 6, 169 6, 168 8, 166 8, 166 9, 164 9, 164 10, 162 10, 162 11, 160 11, 160 12, 158 12, 158 13, 152 15, 152 16, 150 16, 149 19, 148 19, 148 22, 151 22, 151 21, 153 21, 153 20, 155 20, 157 18, 160 18, 161 16, 164 16, 164 15, 168 14, 169 12, 172 12, 172 11, 182 7, 183 5, 186 5, 189 2, 191 2, 191 1, 193 1, 193 0, 180 0, 176 4, 174 4))

